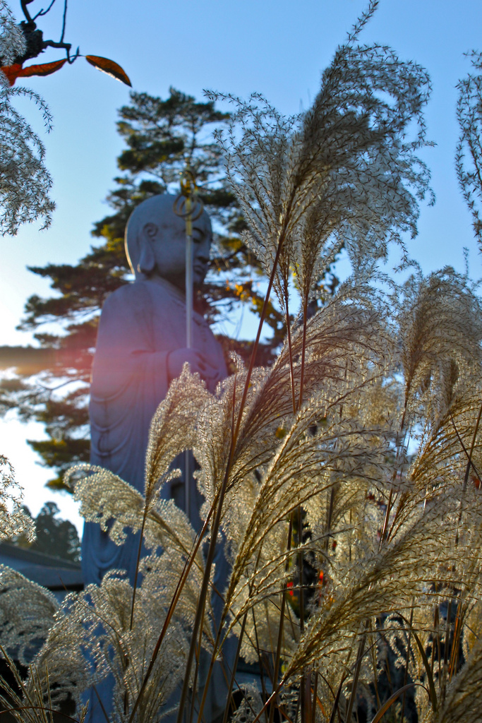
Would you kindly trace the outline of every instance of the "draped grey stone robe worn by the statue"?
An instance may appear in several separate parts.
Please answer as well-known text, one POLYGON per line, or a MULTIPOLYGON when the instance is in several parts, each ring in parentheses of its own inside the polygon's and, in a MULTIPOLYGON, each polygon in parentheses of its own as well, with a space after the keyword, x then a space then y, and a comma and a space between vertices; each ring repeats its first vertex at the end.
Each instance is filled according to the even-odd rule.
MULTIPOLYGON (((90 461, 110 469, 142 493, 150 422, 171 381, 168 378, 168 354, 185 346, 185 298, 168 281, 160 278, 134 281, 106 299, 92 368, 90 461)), ((193 314, 193 347, 218 369, 220 380, 227 375, 221 347, 205 318, 196 312, 193 314)), ((183 471, 182 479, 163 486, 161 494, 173 497, 184 509, 184 455, 179 455, 174 464, 183 471)), ((192 477, 188 484, 191 487, 189 517, 194 528, 199 529, 201 496, 192 477)), ((99 584, 103 575, 113 569, 126 570, 133 584, 138 547, 139 533, 128 534, 126 542, 119 547, 98 524, 85 523, 82 537, 85 584, 99 584)), ((228 575, 222 549, 216 557, 216 578, 222 587, 228 575)), ((219 615, 220 609, 216 608, 220 601, 216 602, 213 601, 215 615, 219 615)), ((228 657, 232 661, 232 651, 228 657)), ((97 693, 90 694, 87 723, 105 723, 97 696, 103 700, 107 711, 111 709, 111 676, 96 688, 97 693)), ((207 721, 223 710, 225 698, 223 674, 215 670, 205 711, 207 721)))

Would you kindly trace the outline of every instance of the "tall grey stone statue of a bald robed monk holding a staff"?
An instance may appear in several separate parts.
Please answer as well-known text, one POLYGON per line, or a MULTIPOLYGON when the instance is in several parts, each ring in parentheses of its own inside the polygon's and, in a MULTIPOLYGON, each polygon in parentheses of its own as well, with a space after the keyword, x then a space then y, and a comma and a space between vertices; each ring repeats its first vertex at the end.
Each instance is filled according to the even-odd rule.
MULTIPOLYGON (((191 372, 215 390, 226 376, 225 361, 202 315, 193 312, 192 348, 186 348, 186 229, 173 211, 174 196, 151 197, 134 210, 126 228, 126 253, 135 280, 106 299, 100 315, 90 393, 90 461, 144 491, 150 422, 168 386, 189 361, 191 372)), ((207 213, 193 222, 193 280, 204 281, 212 241, 207 213)), ((184 455, 176 460, 184 470, 184 455)), ((184 474, 163 489, 184 509, 184 474)), ((199 527, 194 479, 189 518, 199 527)), ((82 570, 85 584, 100 583, 113 568, 134 579, 135 536, 118 547, 95 523, 85 523, 82 570)))

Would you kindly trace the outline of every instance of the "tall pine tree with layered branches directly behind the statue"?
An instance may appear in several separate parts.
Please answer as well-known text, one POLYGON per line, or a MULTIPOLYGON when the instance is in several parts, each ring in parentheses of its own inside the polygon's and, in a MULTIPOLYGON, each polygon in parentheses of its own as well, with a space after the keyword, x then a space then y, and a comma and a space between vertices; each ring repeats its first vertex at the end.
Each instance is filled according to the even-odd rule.
MULTIPOLYGON (((30 270, 48 278, 55 294, 31 296, 20 328, 35 330, 40 349, 20 351, 17 378, 0 386, 0 408, 15 407, 20 419, 45 424, 48 440, 29 440, 43 464, 56 470, 49 486, 62 488, 64 471, 89 458, 87 400, 98 317, 106 296, 128 283, 130 270, 124 253, 124 229, 139 202, 165 190, 176 192, 186 158, 197 177, 199 194, 213 219, 217 242, 210 274, 203 289, 202 312, 211 322, 223 320, 236 305, 249 305, 259 314, 263 294, 257 281, 263 273, 240 234, 244 221, 225 182, 221 151, 212 129, 228 114, 211 101, 197 103, 171 88, 166 100, 132 93, 131 103, 119 111, 118 130, 126 142, 118 164, 124 173, 108 195, 113 213, 95 223, 92 236, 100 239, 77 265, 48 264, 30 270), (204 140, 207 137, 207 140, 204 140), (59 322, 59 333, 43 333, 42 325, 59 322), (25 364, 25 358, 28 363, 25 364), (37 376, 33 376, 34 374, 37 376), (41 385, 39 384, 39 375, 41 385)), ((272 338, 260 348, 258 363, 268 364, 284 335, 284 320, 270 306, 267 323, 272 338)), ((241 356, 249 341, 220 338, 223 346, 241 356)), ((12 365, 12 350, 0 349, 0 365, 12 365)))

